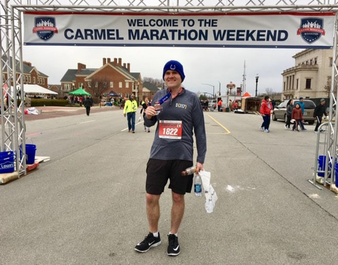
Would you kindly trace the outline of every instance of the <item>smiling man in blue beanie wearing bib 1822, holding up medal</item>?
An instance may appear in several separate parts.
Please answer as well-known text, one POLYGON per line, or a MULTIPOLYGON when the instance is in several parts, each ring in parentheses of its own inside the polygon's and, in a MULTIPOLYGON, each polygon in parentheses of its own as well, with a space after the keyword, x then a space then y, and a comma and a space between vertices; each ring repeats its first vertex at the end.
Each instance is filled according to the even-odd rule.
POLYGON ((184 215, 184 195, 191 191, 193 178, 193 174, 181 176, 181 171, 193 165, 193 132, 197 146, 197 172, 203 170, 206 153, 203 110, 197 95, 182 87, 184 78, 180 62, 167 62, 163 69, 167 89, 158 91, 152 100, 154 103, 146 109, 146 126, 155 123, 157 126, 146 171, 146 209, 150 232, 135 246, 138 252, 146 252, 161 244, 158 232, 159 198, 168 179, 172 207, 167 254, 176 256, 181 252, 177 232, 184 215))

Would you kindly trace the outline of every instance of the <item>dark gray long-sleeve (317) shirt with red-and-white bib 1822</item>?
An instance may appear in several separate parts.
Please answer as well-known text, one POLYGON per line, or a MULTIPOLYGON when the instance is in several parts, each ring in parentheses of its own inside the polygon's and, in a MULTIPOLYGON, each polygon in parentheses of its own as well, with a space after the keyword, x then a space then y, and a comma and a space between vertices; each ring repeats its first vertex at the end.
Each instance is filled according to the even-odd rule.
MULTIPOLYGON (((167 93, 168 90, 158 91, 152 100, 152 105, 167 93)), ((157 116, 151 119, 145 117, 147 127, 157 123, 150 158, 192 161, 194 132, 197 162, 203 164, 206 154, 206 135, 203 110, 197 95, 183 89, 174 99, 165 101, 161 107, 163 109, 157 116), (180 127, 182 127, 182 135, 180 127)))

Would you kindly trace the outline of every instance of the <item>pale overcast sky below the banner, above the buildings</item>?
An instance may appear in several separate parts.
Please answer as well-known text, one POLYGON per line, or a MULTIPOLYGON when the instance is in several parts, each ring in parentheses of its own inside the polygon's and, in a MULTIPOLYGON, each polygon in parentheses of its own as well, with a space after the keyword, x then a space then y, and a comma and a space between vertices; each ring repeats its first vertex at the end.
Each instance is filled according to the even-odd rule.
POLYGON ((184 67, 186 89, 212 93, 212 87, 202 83, 214 85, 216 92, 220 81, 222 95, 230 81, 240 86, 245 60, 246 91, 255 95, 256 74, 259 75, 258 93, 264 93, 266 87, 281 92, 281 73, 294 66, 292 56, 299 51, 301 49, 24 46, 23 60, 48 75, 49 84, 60 84, 66 70, 77 68, 78 62, 87 68, 99 68, 102 58, 122 58, 122 63, 130 63, 131 72, 159 79, 164 64, 177 60, 184 67))

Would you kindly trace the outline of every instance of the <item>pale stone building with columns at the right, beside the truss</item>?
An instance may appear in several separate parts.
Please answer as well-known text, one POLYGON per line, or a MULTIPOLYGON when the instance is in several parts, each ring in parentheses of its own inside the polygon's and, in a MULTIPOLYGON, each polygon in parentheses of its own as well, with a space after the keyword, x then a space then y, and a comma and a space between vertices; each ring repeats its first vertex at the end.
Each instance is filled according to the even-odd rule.
POLYGON ((282 99, 328 97, 332 49, 306 49, 294 55, 295 66, 284 70, 282 99))

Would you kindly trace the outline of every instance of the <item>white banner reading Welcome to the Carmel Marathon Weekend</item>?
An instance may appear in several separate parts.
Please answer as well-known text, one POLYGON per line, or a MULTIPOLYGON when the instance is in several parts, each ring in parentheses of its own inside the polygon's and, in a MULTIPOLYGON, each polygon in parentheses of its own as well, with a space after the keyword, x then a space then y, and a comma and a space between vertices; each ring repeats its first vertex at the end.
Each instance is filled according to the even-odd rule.
POLYGON ((25 12, 25 45, 332 48, 326 13, 25 12))

